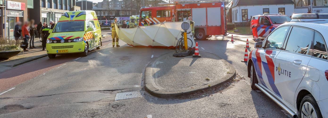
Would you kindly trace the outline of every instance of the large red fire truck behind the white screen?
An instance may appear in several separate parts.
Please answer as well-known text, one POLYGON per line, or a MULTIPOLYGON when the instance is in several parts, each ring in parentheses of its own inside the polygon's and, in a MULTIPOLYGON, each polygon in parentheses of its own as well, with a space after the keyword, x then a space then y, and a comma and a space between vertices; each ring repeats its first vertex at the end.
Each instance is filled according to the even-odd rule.
POLYGON ((175 4, 162 3, 163 7, 140 9, 139 26, 143 20, 148 25, 160 22, 171 22, 175 15, 176 22, 186 21, 192 16, 195 22, 195 38, 203 40, 210 35, 227 35, 227 23, 223 1, 193 2, 190 0, 175 1, 175 4))

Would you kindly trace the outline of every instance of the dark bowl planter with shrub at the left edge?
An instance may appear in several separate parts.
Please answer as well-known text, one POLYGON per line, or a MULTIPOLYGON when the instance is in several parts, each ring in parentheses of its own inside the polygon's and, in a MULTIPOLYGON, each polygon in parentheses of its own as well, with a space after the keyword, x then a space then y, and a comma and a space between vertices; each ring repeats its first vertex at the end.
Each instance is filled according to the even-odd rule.
POLYGON ((9 59, 21 51, 19 43, 15 40, 0 37, 0 59, 9 59))

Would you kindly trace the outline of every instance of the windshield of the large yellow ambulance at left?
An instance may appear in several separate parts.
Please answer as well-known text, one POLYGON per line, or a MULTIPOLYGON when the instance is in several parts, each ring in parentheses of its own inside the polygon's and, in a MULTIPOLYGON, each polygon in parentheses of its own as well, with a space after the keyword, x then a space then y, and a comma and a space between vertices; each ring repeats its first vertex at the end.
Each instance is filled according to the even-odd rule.
POLYGON ((52 32, 84 31, 84 21, 58 22, 52 32))

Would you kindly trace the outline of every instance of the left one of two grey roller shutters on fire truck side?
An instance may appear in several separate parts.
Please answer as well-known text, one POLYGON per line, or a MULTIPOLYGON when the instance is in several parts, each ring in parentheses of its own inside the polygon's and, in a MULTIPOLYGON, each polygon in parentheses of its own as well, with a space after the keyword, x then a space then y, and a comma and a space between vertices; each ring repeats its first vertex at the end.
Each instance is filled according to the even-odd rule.
POLYGON ((192 9, 192 17, 195 22, 195 26, 206 26, 206 8, 192 9))

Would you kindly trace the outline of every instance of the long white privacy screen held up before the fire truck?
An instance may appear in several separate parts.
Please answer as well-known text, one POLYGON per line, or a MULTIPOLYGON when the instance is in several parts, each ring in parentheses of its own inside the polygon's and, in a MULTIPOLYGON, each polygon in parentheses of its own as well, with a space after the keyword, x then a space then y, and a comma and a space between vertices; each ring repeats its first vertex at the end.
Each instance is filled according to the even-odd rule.
MULTIPOLYGON (((130 46, 173 49, 176 46, 177 39, 182 37, 181 31, 184 31, 181 29, 182 23, 183 22, 162 22, 156 25, 138 26, 130 29, 118 29, 115 24, 115 29, 118 29, 116 33, 119 39, 130 46)), ((187 31, 191 31, 191 28, 187 31)), ((191 38, 190 35, 187 35, 187 37, 191 39, 192 42, 188 40, 188 46, 194 48, 194 37, 191 38)))

